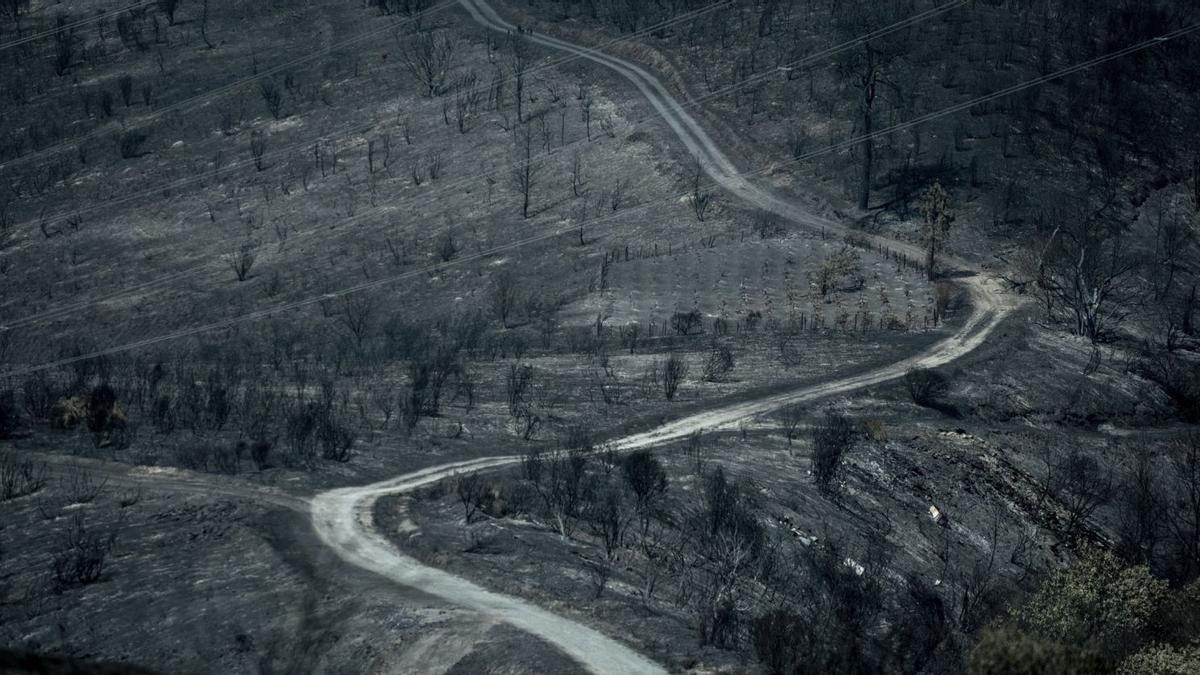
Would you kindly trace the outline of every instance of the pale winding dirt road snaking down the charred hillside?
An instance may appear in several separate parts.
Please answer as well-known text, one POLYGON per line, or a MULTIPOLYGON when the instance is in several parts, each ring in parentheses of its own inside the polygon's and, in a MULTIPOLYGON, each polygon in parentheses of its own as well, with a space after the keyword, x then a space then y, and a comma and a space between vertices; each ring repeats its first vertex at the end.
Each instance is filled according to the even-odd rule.
MULTIPOLYGON (((460 0, 461 5, 481 25, 500 32, 516 31, 485 0, 460 0)), ((554 37, 526 34, 544 47, 569 52, 607 67, 632 83, 659 112, 671 130, 697 157, 704 172, 732 195, 755 208, 772 211, 788 221, 826 232, 848 234, 851 231, 836 222, 808 213, 767 187, 744 178, 708 137, 697 121, 671 96, 665 86, 641 67, 554 37)), ((919 259, 922 251, 910 244, 854 232, 856 237, 883 244, 919 259)), ((1013 304, 1001 293, 1000 283, 984 277, 982 271, 965 261, 946 259, 949 267, 967 273, 959 280, 971 295, 972 313, 953 335, 926 352, 892 365, 842 380, 769 398, 718 407, 677 419, 654 430, 613 441, 620 450, 632 450, 683 438, 694 431, 715 430, 739 420, 778 410, 796 402, 809 402, 880 384, 904 376, 912 368, 934 368, 958 359, 982 345, 994 328, 1009 313, 1013 304)), ((362 488, 346 488, 320 494, 312 500, 312 522, 317 536, 342 558, 364 569, 376 572, 397 584, 421 590, 451 603, 470 608, 488 617, 505 621, 553 644, 582 667, 595 673, 662 673, 662 668, 600 634, 593 628, 569 621, 524 601, 487 591, 466 579, 432 568, 404 555, 389 542, 373 524, 373 507, 379 497, 401 495, 422 485, 436 483, 460 472, 494 470, 520 461, 520 456, 497 456, 461 461, 418 471, 362 488)))

